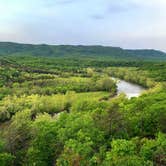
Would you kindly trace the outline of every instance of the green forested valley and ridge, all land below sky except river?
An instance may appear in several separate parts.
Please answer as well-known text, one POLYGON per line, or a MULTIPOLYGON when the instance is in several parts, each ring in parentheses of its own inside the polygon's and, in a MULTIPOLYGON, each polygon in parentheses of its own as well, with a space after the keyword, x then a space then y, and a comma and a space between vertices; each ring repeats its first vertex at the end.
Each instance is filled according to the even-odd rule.
POLYGON ((0 43, 1 166, 165 166, 166 54, 0 43), (120 78, 146 90, 117 95, 120 78))

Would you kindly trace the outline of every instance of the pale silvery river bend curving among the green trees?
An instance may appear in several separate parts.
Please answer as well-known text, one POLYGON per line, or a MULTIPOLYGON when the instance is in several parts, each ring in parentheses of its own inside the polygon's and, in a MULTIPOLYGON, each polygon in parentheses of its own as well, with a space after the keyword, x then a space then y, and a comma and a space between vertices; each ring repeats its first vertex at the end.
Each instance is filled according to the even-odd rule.
MULTIPOLYGON (((116 79, 116 78, 113 78, 113 79, 116 79)), ((128 98, 138 97, 145 90, 145 88, 137 84, 133 84, 133 83, 120 80, 120 79, 116 79, 116 80, 117 80, 118 94, 125 93, 128 98)))

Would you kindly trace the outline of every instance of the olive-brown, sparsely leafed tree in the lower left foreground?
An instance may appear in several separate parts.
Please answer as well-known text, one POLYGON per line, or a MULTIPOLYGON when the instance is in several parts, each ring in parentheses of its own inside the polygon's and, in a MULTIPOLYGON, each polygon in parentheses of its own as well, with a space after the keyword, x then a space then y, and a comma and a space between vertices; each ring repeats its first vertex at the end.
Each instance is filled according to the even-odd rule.
MULTIPOLYGON (((22 165, 31 138, 31 112, 24 110, 12 118, 6 135, 6 148, 16 156, 15 164, 22 165)), ((5 155, 6 156, 6 155, 5 155)))

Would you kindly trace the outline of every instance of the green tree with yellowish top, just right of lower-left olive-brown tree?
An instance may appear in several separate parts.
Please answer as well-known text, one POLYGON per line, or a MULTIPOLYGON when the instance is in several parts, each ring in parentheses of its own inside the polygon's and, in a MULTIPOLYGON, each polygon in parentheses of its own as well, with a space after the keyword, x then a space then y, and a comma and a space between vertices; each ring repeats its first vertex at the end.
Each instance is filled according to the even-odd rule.
POLYGON ((57 141, 57 126, 48 114, 39 115, 32 125, 32 141, 26 155, 29 165, 50 166, 61 148, 57 141))

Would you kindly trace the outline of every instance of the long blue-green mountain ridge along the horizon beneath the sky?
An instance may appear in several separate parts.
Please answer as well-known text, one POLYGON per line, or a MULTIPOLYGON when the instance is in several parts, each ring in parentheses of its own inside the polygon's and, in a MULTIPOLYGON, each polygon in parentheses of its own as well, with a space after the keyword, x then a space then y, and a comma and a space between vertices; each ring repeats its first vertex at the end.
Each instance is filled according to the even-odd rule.
POLYGON ((129 50, 109 46, 47 45, 0 42, 0 56, 32 55, 46 57, 101 56, 118 59, 166 60, 166 53, 153 49, 129 50))

